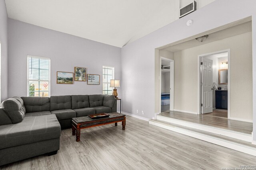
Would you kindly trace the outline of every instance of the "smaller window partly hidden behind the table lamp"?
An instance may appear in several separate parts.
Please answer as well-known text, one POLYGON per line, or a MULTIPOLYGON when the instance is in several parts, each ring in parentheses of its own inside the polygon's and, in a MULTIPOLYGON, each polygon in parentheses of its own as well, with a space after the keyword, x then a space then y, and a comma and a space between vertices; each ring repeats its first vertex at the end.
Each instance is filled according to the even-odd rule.
POLYGON ((102 94, 112 94, 113 88, 110 86, 110 80, 115 79, 115 68, 109 66, 102 67, 102 94))

